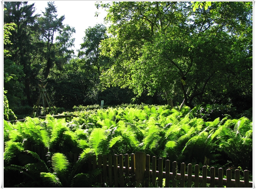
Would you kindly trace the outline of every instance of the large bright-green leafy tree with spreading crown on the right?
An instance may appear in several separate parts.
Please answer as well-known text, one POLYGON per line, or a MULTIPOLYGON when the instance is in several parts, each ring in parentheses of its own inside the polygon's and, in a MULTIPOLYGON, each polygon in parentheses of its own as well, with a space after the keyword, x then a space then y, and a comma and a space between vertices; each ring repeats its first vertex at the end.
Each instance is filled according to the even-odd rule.
POLYGON ((227 64, 230 49, 244 31, 239 25, 250 23, 252 9, 251 4, 225 2, 212 14, 217 4, 211 5, 196 11, 187 2, 98 5, 106 7, 106 20, 112 23, 102 52, 114 61, 102 82, 130 87, 138 95, 161 90, 171 106, 172 98, 181 95, 190 108, 195 101, 202 103, 205 91, 226 87, 220 78, 227 70, 232 72, 227 64))

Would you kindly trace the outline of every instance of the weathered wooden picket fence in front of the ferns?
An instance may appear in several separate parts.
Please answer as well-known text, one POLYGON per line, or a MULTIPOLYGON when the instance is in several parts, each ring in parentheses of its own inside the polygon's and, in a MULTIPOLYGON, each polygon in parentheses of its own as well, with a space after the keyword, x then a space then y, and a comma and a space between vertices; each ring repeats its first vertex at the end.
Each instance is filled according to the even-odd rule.
POLYGON ((207 166, 203 166, 202 176, 199 176, 199 165, 194 167, 192 175, 192 164, 188 164, 186 174, 186 164, 181 163, 180 173, 177 173, 177 162, 172 163, 170 169, 170 160, 165 161, 165 171, 163 171, 163 159, 158 159, 158 170, 156 170, 156 157, 143 152, 129 155, 93 155, 89 158, 88 166, 90 170, 96 168, 102 169, 102 175, 97 179, 98 183, 108 183, 109 187, 163 187, 163 178, 165 178, 164 187, 249 187, 252 188, 252 182, 249 181, 249 171, 244 170, 244 180, 240 180, 240 170, 235 170, 235 179, 231 179, 231 169, 227 169, 226 178, 223 178, 223 169, 218 169, 218 177, 215 177, 215 168, 210 168, 210 177, 207 177, 207 166), (136 154, 136 155, 135 155, 136 154), (118 163, 119 160, 119 163, 118 163), (150 166, 151 164, 151 166, 150 166), (120 169, 123 168, 123 169, 120 169), (135 184, 134 184, 135 183, 135 184), (171 185, 170 185, 171 183, 171 185), (208 185, 207 185, 208 184, 208 185))

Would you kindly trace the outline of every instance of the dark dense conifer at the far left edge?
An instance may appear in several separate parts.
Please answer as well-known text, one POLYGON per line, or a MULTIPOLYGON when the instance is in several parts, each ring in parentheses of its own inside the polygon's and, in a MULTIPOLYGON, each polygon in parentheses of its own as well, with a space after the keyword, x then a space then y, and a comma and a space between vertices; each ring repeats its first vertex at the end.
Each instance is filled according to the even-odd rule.
POLYGON ((4 57, 4 69, 9 69, 11 68, 9 65, 16 64, 16 66, 23 66, 25 74, 25 77, 18 79, 18 86, 9 87, 6 85, 5 88, 9 91, 8 98, 12 98, 12 106, 25 105, 26 103, 32 106, 33 82, 39 72, 38 58, 35 56, 37 50, 40 50, 36 43, 38 33, 35 19, 38 15, 33 15, 35 12, 34 4, 28 5, 28 2, 4 2, 4 8, 4 23, 14 23, 16 25, 16 29, 10 31, 12 35, 9 35, 9 40, 13 44, 4 45, 4 49, 8 50, 9 55, 11 55, 4 57), (13 87, 18 91, 13 90, 13 87), (20 100, 17 100, 17 97, 20 100))

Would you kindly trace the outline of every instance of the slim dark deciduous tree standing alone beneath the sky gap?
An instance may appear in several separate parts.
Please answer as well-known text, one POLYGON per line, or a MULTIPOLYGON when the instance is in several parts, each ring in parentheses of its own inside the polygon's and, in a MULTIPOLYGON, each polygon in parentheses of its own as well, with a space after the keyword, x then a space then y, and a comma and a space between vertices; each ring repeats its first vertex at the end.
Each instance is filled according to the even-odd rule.
POLYGON ((99 84, 101 72, 108 67, 109 60, 107 57, 100 54, 100 43, 102 40, 107 39, 107 28, 102 24, 96 24, 94 27, 88 27, 85 30, 84 42, 78 51, 78 57, 87 66, 91 66, 95 72, 95 93, 96 102, 98 104, 99 84))

